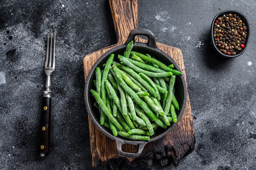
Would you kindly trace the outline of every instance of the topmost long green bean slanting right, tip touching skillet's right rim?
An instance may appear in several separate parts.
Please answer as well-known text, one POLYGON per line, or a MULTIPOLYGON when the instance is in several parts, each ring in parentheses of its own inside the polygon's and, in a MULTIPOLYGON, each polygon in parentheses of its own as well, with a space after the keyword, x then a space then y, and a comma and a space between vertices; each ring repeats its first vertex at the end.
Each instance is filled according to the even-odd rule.
MULTIPOLYGON (((155 58, 150 58, 148 56, 145 56, 144 54, 141 54, 141 53, 138 53, 138 52, 135 52, 135 51, 131 51, 130 54, 136 54, 137 56, 139 56, 141 59, 145 60, 145 61, 148 61, 150 63, 153 63, 155 65, 158 65, 160 68, 164 69, 165 71, 167 72, 172 72, 173 74, 176 74, 176 75, 181 75, 182 72, 179 72, 178 70, 176 69, 171 69, 169 67, 167 67, 164 63, 156 60, 155 58)), ((167 77, 167 76, 166 76, 167 77)))

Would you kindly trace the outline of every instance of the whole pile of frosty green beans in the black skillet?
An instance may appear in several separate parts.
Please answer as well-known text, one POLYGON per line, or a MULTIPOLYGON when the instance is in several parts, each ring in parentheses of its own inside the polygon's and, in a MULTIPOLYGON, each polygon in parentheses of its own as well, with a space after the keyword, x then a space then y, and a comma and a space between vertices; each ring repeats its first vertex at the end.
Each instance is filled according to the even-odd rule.
POLYGON ((180 110, 174 96, 175 75, 182 73, 153 56, 132 51, 131 41, 115 62, 111 54, 103 70, 96 68, 94 106, 101 114, 100 124, 114 136, 149 141, 160 126, 177 122, 180 110))

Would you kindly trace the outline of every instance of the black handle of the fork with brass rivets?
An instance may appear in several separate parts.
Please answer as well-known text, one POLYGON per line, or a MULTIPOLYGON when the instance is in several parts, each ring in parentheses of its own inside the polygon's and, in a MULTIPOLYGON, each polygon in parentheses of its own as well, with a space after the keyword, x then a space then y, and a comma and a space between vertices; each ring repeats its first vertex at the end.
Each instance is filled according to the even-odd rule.
POLYGON ((52 98, 43 97, 38 139, 40 157, 46 157, 50 151, 51 104, 52 98))

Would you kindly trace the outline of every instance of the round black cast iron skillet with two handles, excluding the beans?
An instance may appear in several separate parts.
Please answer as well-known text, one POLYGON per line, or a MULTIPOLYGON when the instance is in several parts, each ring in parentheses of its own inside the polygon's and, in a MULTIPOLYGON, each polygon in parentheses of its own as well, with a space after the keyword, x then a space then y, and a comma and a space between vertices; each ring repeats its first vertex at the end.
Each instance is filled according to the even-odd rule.
MULTIPOLYGON (((151 56, 155 56, 157 58, 157 60, 161 61, 162 63, 165 63, 166 65, 170 65, 171 63, 173 63, 173 65, 175 66, 175 69, 180 70, 180 68, 177 66, 177 64, 173 61, 173 59, 168 56, 166 53, 164 53, 163 51, 161 51, 159 48, 157 48, 157 45, 155 43, 155 36, 154 34, 147 30, 147 29, 134 29, 130 32, 128 39, 126 41, 126 43, 124 43, 123 45, 119 45, 113 49, 110 49, 109 51, 107 51, 105 54, 103 54, 98 60, 97 62, 92 66, 87 78, 86 78, 86 82, 85 82, 85 105, 86 105, 86 109, 88 114, 90 115, 90 118, 92 119, 93 123, 97 126, 97 128, 99 128, 99 130, 101 130, 101 132, 103 134, 105 134, 106 136, 108 136, 110 139, 113 139, 116 141, 117 144, 117 152, 121 157, 138 157, 144 146, 146 145, 146 143, 148 143, 148 141, 134 141, 134 140, 130 140, 130 139, 126 139, 126 138, 122 138, 120 136, 113 136, 112 132, 110 130, 108 130, 107 128, 105 128, 104 126, 102 126, 99 123, 99 118, 100 118, 100 113, 99 110, 97 110, 97 108, 94 107, 94 103, 95 103, 95 99, 92 96, 90 89, 95 89, 94 85, 93 85, 93 80, 95 80, 95 69, 96 67, 100 67, 102 69, 102 65, 103 63, 106 63, 106 61, 108 60, 108 57, 110 56, 110 54, 115 54, 115 58, 114 60, 118 61, 119 59, 117 58, 118 54, 123 54, 125 49, 126 49, 126 45, 133 40, 134 42, 134 46, 133 46, 133 50, 134 51, 138 51, 141 53, 147 53, 150 54, 151 56), (143 35, 143 36, 147 36, 148 37, 148 42, 147 44, 145 43, 140 43, 140 42, 135 42, 135 36, 136 35, 143 35), (128 152, 124 152, 122 151, 122 145, 124 143, 128 143, 128 144, 132 144, 132 145, 138 145, 138 152, 137 153, 128 153, 128 152)), ((186 83, 184 80, 184 76, 176 76, 176 81, 175 81, 175 96, 177 98, 178 103, 180 104, 180 111, 177 112, 176 114, 178 115, 177 117, 177 123, 180 121, 185 107, 186 107, 186 83)), ((177 123, 171 123, 171 126, 168 126, 166 129, 163 128, 157 128, 155 134, 153 136, 150 136, 150 141, 155 141, 161 137, 163 137, 164 135, 166 135, 168 132, 170 132, 177 123)))

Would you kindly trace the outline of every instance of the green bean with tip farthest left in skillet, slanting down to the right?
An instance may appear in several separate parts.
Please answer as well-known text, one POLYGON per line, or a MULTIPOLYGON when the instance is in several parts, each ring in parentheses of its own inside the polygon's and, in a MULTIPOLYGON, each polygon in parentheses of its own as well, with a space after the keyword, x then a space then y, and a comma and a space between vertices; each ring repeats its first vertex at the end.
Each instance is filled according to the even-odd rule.
MULTIPOLYGON (((93 90, 93 89, 91 89, 90 92, 92 93, 92 95, 94 96, 95 100, 97 101, 97 103, 101 107, 101 110, 106 114, 106 116, 108 116, 108 119, 110 121, 112 121, 112 123, 114 123, 114 125, 117 127, 118 130, 122 130, 121 125, 117 122, 115 117, 111 114, 111 112, 108 110, 106 105, 103 103, 103 101, 102 101, 101 97, 99 96, 99 94, 95 90, 93 90)), ((103 125, 104 125, 104 123, 103 123, 103 125)))

